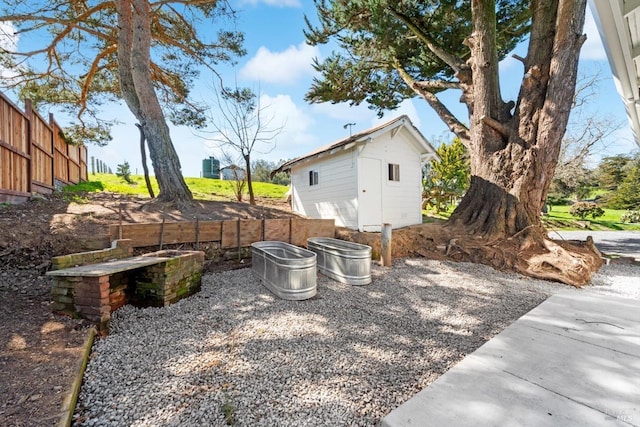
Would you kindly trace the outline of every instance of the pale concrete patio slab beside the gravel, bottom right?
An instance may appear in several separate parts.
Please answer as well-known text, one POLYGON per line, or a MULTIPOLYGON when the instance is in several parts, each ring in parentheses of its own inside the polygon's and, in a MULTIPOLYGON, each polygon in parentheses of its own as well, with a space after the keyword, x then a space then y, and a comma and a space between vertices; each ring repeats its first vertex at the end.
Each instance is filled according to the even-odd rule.
POLYGON ((640 426, 640 301, 560 292, 382 425, 640 426))

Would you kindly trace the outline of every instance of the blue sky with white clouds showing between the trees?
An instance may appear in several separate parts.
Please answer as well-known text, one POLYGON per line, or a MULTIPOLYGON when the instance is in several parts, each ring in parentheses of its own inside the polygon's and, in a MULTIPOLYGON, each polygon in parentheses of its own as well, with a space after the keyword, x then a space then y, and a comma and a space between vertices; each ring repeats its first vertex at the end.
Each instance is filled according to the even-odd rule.
MULTIPOLYGON (((311 47, 305 44, 303 29, 305 14, 315 21, 313 2, 308 0, 232 0, 240 12, 238 28, 245 33, 247 55, 238 59, 235 68, 224 66, 220 71, 227 84, 237 80, 239 86, 248 86, 261 94, 261 105, 268 106, 265 114, 273 115, 275 125, 283 125, 277 137, 276 148, 267 154, 255 152, 253 157, 272 161, 290 159, 349 135, 346 123, 356 123, 352 130, 357 132, 374 126, 381 121, 391 120, 400 114, 407 114, 413 123, 434 145, 449 140, 451 135, 440 119, 431 111, 425 101, 414 98, 405 101, 398 110, 390 111, 382 119, 365 105, 349 107, 347 104, 309 105, 304 101, 313 78, 311 62, 330 53, 330 47, 311 47)), ((603 152, 607 155, 628 153, 637 148, 632 140, 626 113, 618 96, 605 52, 600 42, 590 12, 587 13, 585 32, 588 39, 582 49, 581 69, 589 74, 599 69, 604 78, 599 83, 597 96, 592 100, 592 108, 598 115, 610 115, 623 126, 608 138, 603 152)), ((523 49, 525 47, 521 47, 523 49)), ((524 50, 522 51, 524 56, 524 50)), ((522 64, 512 58, 501 63, 503 97, 514 99, 522 77, 522 64)), ((213 87, 212 78, 202 74, 201 81, 194 90, 196 100, 209 101, 213 87)), ((458 102, 459 92, 450 91, 441 99, 447 106, 465 118, 465 108, 458 102)), ((104 118, 118 118, 123 124, 114 127, 113 141, 106 147, 90 145, 89 156, 107 163, 113 170, 116 165, 128 161, 134 172, 142 173, 139 154, 138 131, 135 119, 123 105, 105 108, 104 118)), ((172 127, 171 136, 180 157, 185 177, 200 176, 202 159, 209 156, 220 158, 215 144, 207 142, 188 128, 172 127)), ((256 148, 260 151, 260 147, 256 148)))

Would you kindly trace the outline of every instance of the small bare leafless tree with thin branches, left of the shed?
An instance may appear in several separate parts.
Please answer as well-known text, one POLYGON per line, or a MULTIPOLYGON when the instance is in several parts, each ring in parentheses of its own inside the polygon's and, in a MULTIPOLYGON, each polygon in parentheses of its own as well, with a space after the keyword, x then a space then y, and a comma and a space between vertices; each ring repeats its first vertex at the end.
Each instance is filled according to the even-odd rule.
POLYGON ((256 204, 251 177, 251 155, 265 154, 275 148, 275 138, 282 126, 273 126, 273 116, 267 114, 269 106, 261 105, 260 98, 249 88, 214 90, 217 115, 210 117, 213 141, 221 150, 231 149, 242 157, 246 170, 249 203, 256 204))

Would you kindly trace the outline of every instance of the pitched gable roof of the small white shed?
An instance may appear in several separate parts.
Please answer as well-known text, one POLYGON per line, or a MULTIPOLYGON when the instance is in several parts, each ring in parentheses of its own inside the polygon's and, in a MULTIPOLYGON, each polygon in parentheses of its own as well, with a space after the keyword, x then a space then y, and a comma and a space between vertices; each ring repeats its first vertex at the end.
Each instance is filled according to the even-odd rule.
POLYGON ((422 133, 416 128, 409 117, 407 115, 399 116, 391 121, 383 123, 378 126, 374 126, 370 129, 354 133, 348 138, 341 139, 339 141, 333 142, 331 144, 323 145, 312 152, 305 154, 303 156, 297 157, 295 159, 289 160, 288 162, 283 163, 280 167, 273 170, 271 175, 275 175, 278 172, 286 172, 291 170, 291 168, 305 160, 311 160, 313 158, 320 157, 321 155, 325 155, 327 153, 333 154, 337 152, 339 149, 348 149, 353 147, 356 144, 364 144, 370 141, 371 139, 389 132, 395 128, 399 128, 404 126, 410 134, 418 141, 418 144, 422 147, 423 151, 420 154, 427 153, 435 153, 434 148, 429 144, 429 141, 422 135, 422 133))

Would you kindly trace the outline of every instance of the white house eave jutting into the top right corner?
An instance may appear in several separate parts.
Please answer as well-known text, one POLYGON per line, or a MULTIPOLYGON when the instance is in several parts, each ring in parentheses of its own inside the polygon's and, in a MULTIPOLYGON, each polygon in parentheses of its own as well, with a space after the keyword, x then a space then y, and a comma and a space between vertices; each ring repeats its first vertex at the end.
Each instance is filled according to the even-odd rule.
POLYGON ((589 0, 589 7, 640 145, 640 0, 589 0))

